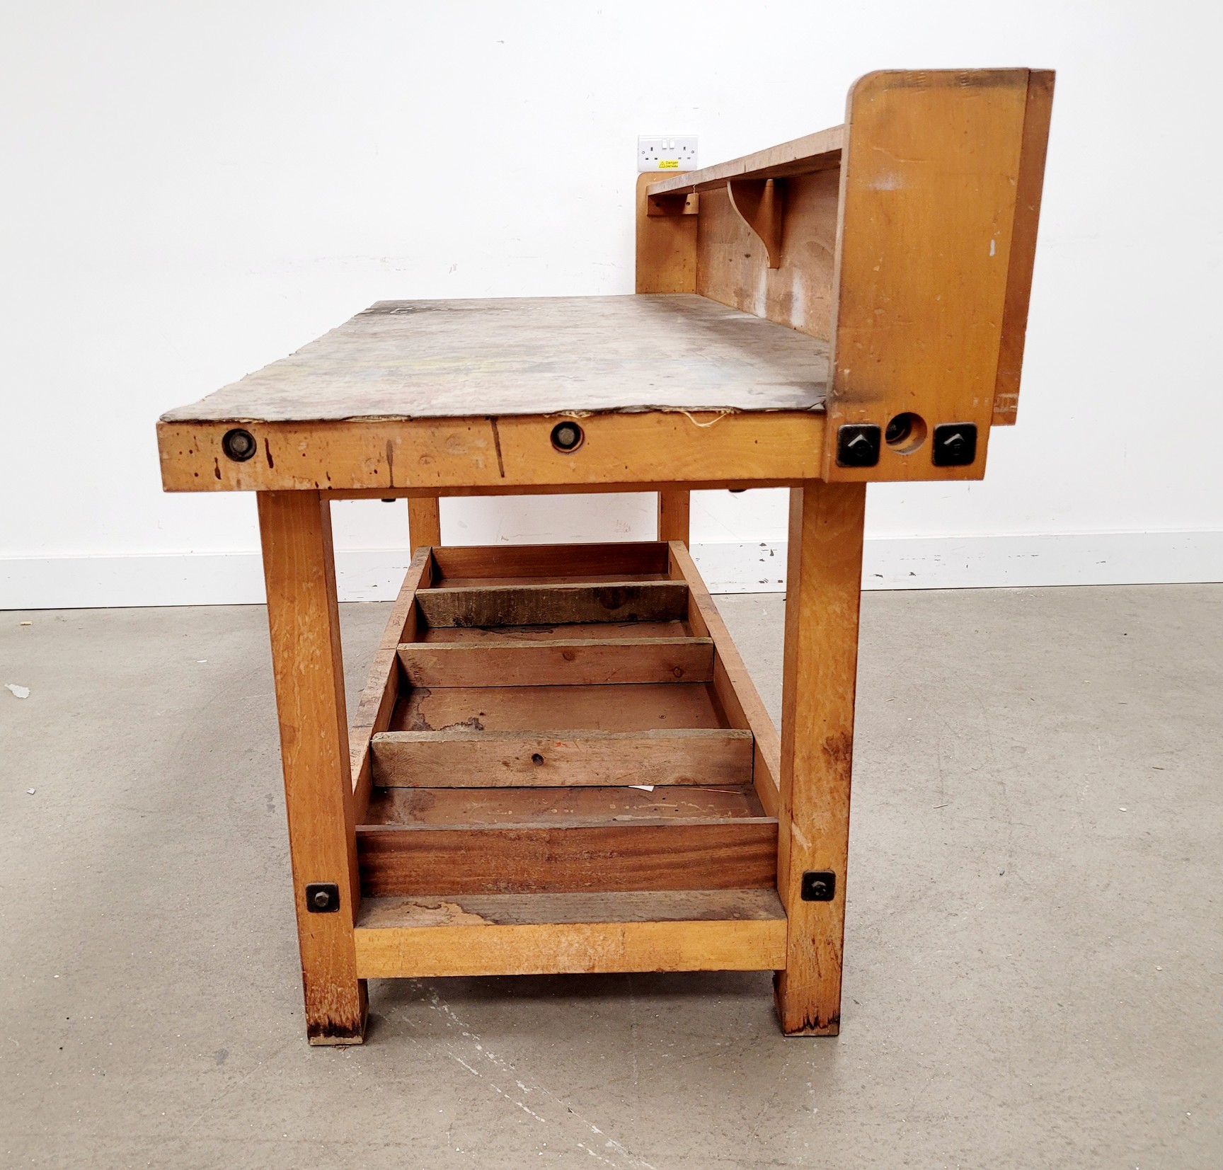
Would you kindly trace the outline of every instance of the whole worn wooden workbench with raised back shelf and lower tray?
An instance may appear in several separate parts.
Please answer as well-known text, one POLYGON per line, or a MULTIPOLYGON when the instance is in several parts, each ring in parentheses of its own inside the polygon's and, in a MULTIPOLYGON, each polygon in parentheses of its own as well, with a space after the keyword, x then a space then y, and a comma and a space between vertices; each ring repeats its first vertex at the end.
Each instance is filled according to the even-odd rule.
POLYGON ((258 493, 312 1043, 368 978, 594 971, 775 971, 783 1031, 837 1032, 866 483, 980 478, 1015 419, 1051 101, 868 75, 844 126, 640 176, 636 295, 379 302, 163 416, 168 490, 258 493), (780 734, 686 544, 693 488, 764 485, 780 734), (442 495, 634 489, 657 542, 442 544, 442 495), (361 496, 415 555, 350 726, 361 496))

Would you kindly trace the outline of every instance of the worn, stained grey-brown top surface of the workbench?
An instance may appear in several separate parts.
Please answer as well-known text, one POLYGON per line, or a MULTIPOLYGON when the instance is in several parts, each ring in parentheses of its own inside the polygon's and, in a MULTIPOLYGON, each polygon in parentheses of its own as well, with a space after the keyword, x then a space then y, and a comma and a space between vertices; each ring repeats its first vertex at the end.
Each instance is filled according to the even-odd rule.
POLYGON ((685 295, 379 301, 165 422, 823 411, 828 344, 685 295))

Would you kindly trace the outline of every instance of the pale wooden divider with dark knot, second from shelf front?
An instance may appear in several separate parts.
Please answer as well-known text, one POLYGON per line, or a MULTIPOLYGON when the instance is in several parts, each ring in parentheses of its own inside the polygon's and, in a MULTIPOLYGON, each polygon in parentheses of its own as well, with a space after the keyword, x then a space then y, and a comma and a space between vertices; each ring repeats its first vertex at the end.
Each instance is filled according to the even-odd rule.
POLYGON ((374 784, 750 784, 752 735, 730 727, 651 731, 384 731, 374 784))

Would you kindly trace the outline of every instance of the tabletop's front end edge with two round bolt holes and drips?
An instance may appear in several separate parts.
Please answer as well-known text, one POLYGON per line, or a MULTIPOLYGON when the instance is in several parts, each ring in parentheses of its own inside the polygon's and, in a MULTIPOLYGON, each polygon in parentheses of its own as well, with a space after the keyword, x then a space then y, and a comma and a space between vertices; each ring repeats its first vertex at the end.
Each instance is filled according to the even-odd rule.
MULTIPOLYGON (((813 368, 818 379, 818 359, 813 368)), ((663 410, 582 417, 586 441, 563 455, 552 445, 555 423, 554 416, 247 422, 258 454, 236 463, 221 449, 232 423, 163 422, 161 484, 166 491, 366 491, 367 499, 768 487, 818 476, 824 441, 824 417, 815 410, 663 410)))

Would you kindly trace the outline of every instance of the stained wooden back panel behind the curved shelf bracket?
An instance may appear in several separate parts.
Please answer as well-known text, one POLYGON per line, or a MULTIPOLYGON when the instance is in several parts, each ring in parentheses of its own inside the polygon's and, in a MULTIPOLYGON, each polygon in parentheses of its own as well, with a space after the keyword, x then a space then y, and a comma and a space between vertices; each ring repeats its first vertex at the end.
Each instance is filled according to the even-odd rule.
POLYGON ((839 171, 788 178, 778 265, 725 191, 701 196, 697 292, 819 339, 832 337, 839 171))

